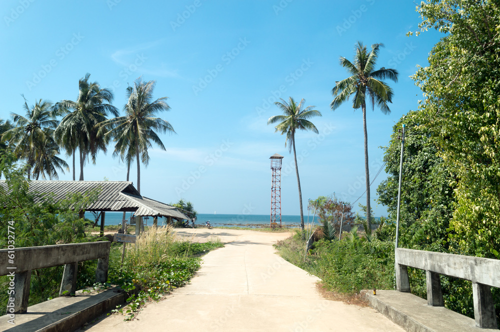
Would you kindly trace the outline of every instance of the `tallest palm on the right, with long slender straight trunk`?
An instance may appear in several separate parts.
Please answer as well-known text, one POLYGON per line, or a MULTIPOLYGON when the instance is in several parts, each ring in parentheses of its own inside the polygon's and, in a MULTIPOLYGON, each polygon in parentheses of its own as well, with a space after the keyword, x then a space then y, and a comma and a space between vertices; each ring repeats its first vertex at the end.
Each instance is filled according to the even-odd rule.
POLYGON ((354 63, 344 57, 340 57, 340 65, 351 75, 341 81, 335 82, 335 87, 331 90, 333 101, 330 104, 331 110, 335 110, 344 101, 354 95, 352 107, 361 108, 363 112, 364 130, 364 170, 366 175, 366 220, 368 229, 371 229, 370 210, 370 176, 368 170, 368 134, 366 131, 366 100, 371 102, 372 109, 375 104, 383 114, 389 114, 390 110, 387 102, 392 102, 392 89, 382 79, 390 79, 397 82, 398 72, 391 68, 380 68, 375 70, 375 63, 378 52, 383 44, 371 45, 371 51, 366 50, 360 41, 354 47, 354 63))

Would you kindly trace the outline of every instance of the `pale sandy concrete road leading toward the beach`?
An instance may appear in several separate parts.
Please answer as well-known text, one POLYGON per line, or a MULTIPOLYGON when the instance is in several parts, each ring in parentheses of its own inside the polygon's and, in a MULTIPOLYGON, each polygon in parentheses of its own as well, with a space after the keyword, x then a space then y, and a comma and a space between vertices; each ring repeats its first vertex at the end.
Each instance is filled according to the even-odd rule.
POLYGON ((86 331, 403 331, 373 309, 323 299, 318 278, 274 253, 272 244, 289 233, 188 229, 179 235, 229 243, 203 257, 191 284, 148 304, 137 320, 112 315, 86 331))

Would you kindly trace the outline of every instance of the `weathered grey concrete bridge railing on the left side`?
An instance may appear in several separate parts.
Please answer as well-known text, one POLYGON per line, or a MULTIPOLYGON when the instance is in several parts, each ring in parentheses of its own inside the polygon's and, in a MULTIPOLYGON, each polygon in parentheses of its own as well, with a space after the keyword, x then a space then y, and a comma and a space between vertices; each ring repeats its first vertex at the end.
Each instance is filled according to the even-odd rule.
POLYGON ((105 241, 1 249, 0 276, 9 276, 9 290, 13 290, 13 293, 8 294, 14 300, 7 302, 7 314, 23 314, 27 311, 32 270, 64 265, 59 296, 69 296, 76 292, 78 262, 98 259, 95 280, 104 284, 107 280, 110 247, 111 243, 105 241))

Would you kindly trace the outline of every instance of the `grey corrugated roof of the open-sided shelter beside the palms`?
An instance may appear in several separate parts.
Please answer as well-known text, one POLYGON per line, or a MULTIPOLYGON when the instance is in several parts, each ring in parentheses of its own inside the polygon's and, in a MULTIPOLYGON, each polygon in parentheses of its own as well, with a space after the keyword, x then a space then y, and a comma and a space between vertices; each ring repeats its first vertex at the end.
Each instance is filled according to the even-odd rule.
MULTIPOLYGON (((0 180, 0 186, 7 189, 4 180, 0 180)), ((135 211, 134 214, 137 216, 189 219, 173 206, 140 196, 129 181, 32 180, 29 182, 29 192, 39 193, 39 200, 43 199, 44 193, 51 193, 54 200, 61 200, 68 194, 84 194, 94 189, 99 189, 100 193, 97 200, 85 208, 86 211, 135 211)))

